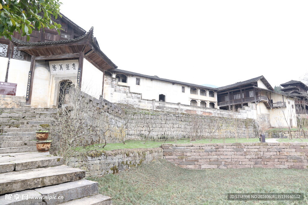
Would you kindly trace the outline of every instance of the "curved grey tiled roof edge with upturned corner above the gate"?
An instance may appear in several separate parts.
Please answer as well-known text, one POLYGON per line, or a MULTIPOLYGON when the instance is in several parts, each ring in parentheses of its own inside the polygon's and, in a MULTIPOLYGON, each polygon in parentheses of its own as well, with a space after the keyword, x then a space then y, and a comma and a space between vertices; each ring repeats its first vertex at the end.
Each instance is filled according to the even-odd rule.
POLYGON ((96 49, 99 50, 99 53, 101 55, 103 55, 107 60, 109 60, 109 62, 114 66, 114 68, 117 68, 118 66, 116 66, 106 55, 105 53, 103 53, 103 51, 99 48, 98 42, 96 40, 96 38, 93 36, 93 26, 91 27, 91 29, 85 33, 84 35, 78 37, 78 38, 73 38, 73 39, 68 39, 68 40, 63 40, 63 41, 47 41, 47 42, 26 42, 26 41, 22 41, 19 40, 17 38, 12 37, 12 42, 17 44, 17 45, 25 45, 25 46, 31 46, 31 45, 50 45, 50 44, 58 44, 58 43, 67 43, 67 42, 75 42, 78 40, 81 40, 83 38, 87 38, 88 35, 91 35, 91 41, 92 41, 92 45, 95 46, 96 49))

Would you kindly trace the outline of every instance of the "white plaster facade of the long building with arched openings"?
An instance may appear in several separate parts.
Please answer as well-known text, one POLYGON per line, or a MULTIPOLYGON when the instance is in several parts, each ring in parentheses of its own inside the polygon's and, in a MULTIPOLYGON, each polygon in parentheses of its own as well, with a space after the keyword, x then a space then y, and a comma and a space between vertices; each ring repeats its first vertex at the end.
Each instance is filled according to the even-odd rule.
MULTIPOLYGON (((159 100, 159 95, 165 95, 166 102, 172 103, 181 103, 190 105, 190 101, 192 99, 198 100, 198 106, 200 106, 200 101, 205 101, 207 103, 207 107, 209 106, 209 102, 217 102, 217 93, 214 92, 215 97, 209 97, 209 90, 206 90, 206 96, 200 95, 200 89, 197 88, 197 95, 190 94, 190 87, 186 85, 179 85, 159 80, 151 80, 148 78, 143 78, 139 76, 131 76, 126 75, 127 83, 119 82, 118 85, 129 86, 130 92, 133 93, 141 93, 142 99, 146 100, 159 100), (140 78, 140 85, 136 85, 136 78, 140 78), (185 93, 182 93, 182 86, 185 87, 185 93)), ((105 91, 107 92, 110 85, 105 85, 105 91)), ((104 92, 105 92, 104 91, 104 92)), ((106 93, 105 92, 105 93, 106 93)), ((115 98, 116 93, 113 94, 113 98, 115 98)), ((105 94, 105 99, 108 100, 108 94, 105 94)), ((121 96, 122 97, 122 96, 121 96)), ((119 98, 121 98, 119 96, 119 98)))

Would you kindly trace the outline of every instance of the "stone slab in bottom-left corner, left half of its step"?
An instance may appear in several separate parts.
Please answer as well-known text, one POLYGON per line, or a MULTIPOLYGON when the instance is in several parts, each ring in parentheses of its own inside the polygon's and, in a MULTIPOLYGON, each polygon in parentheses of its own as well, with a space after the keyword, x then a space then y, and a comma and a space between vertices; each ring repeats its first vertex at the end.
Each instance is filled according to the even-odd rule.
POLYGON ((42 196, 39 192, 34 190, 26 190, 26 191, 18 191, 12 193, 12 198, 10 200, 7 200, 5 195, 0 196, 0 204, 2 205, 12 205, 12 204, 20 204, 20 205, 42 205, 43 200, 42 199, 31 199, 31 197, 40 197, 42 196), (15 196, 20 196, 19 199, 14 199, 15 196), (28 199, 24 198, 22 199, 22 195, 27 195, 28 199))

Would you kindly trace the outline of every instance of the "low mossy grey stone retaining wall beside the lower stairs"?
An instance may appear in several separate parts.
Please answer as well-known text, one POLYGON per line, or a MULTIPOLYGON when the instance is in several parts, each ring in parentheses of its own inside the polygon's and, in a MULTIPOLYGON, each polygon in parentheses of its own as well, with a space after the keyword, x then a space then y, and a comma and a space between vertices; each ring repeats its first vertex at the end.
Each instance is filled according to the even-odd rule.
POLYGON ((87 177, 115 174, 128 170, 156 159, 163 158, 162 148, 152 149, 118 149, 114 151, 91 152, 84 158, 71 158, 68 166, 80 168, 86 171, 87 177))

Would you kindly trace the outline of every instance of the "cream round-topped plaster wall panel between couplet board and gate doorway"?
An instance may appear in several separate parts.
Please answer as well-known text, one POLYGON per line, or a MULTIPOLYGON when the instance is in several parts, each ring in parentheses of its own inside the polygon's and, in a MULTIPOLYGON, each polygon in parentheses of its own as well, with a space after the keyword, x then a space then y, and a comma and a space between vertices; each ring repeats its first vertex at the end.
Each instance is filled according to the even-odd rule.
POLYGON ((34 69, 31 106, 48 107, 49 70, 43 67, 34 69))

